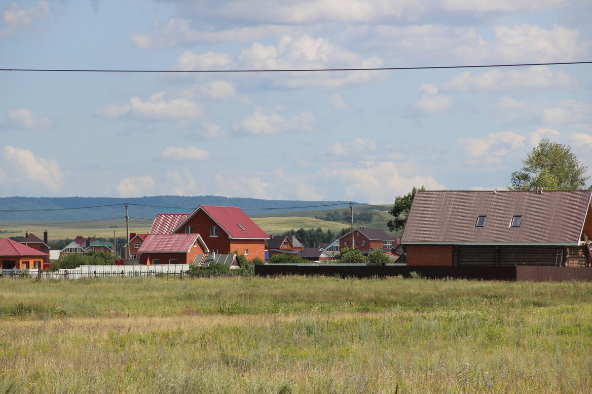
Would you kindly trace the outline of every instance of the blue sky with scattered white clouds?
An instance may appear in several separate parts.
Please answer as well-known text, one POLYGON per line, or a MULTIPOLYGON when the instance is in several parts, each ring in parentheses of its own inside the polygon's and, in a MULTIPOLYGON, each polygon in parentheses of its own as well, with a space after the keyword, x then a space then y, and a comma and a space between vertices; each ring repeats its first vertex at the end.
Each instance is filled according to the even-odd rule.
MULTIPOLYGON (((1 69, 592 60, 590 0, 0 1, 1 69)), ((542 138, 592 175, 592 64, 0 71, 0 197, 388 204, 488 190, 542 138)))

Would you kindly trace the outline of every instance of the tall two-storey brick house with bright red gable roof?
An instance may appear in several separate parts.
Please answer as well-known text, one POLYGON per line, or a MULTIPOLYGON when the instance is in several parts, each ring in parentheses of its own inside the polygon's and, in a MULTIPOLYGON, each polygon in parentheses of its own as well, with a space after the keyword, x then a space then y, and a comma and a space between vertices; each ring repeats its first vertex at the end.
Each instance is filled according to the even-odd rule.
POLYGON ((238 250, 249 260, 265 259, 269 239, 240 208, 207 205, 197 207, 171 233, 200 234, 211 252, 226 255, 238 250))

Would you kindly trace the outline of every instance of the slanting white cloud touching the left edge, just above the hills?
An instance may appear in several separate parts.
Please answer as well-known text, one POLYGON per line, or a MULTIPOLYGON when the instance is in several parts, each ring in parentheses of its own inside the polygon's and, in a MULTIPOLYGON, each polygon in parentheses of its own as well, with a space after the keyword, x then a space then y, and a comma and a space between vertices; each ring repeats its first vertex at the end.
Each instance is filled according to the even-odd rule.
POLYGON ((12 164, 15 172, 25 175, 28 180, 45 185, 52 191, 60 189, 63 173, 55 160, 44 159, 27 149, 13 146, 4 147, 4 158, 12 164))

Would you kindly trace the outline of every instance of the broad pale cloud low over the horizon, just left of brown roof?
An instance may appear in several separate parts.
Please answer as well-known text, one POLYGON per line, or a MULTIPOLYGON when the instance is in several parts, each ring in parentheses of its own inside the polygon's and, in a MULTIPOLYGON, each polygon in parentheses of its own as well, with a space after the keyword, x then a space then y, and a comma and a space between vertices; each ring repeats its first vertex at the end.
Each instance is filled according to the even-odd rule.
POLYGON ((340 187, 351 200, 384 204, 394 201, 395 196, 408 193, 413 186, 424 185, 429 190, 445 188, 433 177, 424 175, 403 176, 392 162, 358 162, 352 167, 323 168, 317 177, 326 184, 340 187))

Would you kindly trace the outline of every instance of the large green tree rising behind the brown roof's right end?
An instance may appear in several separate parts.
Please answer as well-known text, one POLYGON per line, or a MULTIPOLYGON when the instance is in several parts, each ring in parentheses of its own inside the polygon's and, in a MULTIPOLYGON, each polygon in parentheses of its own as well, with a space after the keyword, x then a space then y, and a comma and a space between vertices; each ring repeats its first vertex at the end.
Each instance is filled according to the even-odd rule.
POLYGON ((585 176, 588 167, 575 157, 569 145, 548 138, 541 139, 522 162, 522 170, 512 172, 509 190, 581 190, 590 178, 585 176))

